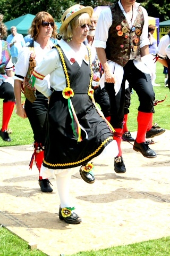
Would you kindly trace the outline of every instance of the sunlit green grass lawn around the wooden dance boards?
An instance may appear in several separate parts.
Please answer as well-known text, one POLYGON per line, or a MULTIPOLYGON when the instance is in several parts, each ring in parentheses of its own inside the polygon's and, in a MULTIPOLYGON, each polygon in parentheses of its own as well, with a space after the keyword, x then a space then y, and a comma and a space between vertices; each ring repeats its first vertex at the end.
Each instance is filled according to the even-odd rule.
MULTIPOLYGON (((154 87, 157 100, 162 100, 167 95, 166 100, 155 107, 154 122, 159 126, 170 130, 169 124, 169 107, 170 94, 169 89, 164 87, 163 66, 157 63, 157 79, 156 83, 160 87, 154 87)), ((24 98, 22 98, 24 100, 24 98)), ((0 100, 0 113, 2 119, 2 102, 0 100)), ((131 95, 130 114, 128 119, 128 127, 130 131, 137 131, 137 114, 138 114, 138 97, 135 92, 131 95)), ((1 120, 0 120, 1 122, 1 120)), ((12 129, 11 142, 4 142, 0 138, 0 147, 15 145, 30 145, 33 142, 32 130, 27 119, 22 119, 14 113, 12 115, 9 127, 12 129)), ((1 225, 1 220, 0 220, 1 225)), ((48 245, 47 245, 48 246, 48 245)), ((135 243, 125 246, 112 247, 105 250, 80 252, 72 256, 168 256, 170 255, 170 237, 156 239, 148 242, 135 243)), ((46 255, 38 250, 30 251, 28 243, 12 234, 6 228, 0 226, 0 256, 43 256, 46 255)), ((54 255, 58 256, 58 255, 54 255)), ((66 256, 66 255, 65 255, 66 256)))

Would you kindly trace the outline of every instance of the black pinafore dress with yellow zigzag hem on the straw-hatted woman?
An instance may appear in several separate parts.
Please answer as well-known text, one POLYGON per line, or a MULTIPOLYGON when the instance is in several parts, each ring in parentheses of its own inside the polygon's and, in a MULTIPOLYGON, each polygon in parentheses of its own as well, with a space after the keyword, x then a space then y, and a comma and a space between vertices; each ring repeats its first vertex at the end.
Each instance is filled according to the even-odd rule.
MULTIPOLYGON (((62 49, 61 49, 62 50, 62 49)), ((113 133, 105 120, 99 116, 88 95, 91 70, 90 65, 82 61, 81 67, 75 61, 72 65, 62 51, 70 78, 70 87, 74 91, 72 105, 81 130, 81 142, 78 142, 72 129, 72 119, 68 100, 62 91, 53 91, 48 108, 45 157, 43 165, 49 169, 69 169, 88 163, 98 156, 113 140, 113 133)), ((74 123, 77 130, 77 123, 74 123)))

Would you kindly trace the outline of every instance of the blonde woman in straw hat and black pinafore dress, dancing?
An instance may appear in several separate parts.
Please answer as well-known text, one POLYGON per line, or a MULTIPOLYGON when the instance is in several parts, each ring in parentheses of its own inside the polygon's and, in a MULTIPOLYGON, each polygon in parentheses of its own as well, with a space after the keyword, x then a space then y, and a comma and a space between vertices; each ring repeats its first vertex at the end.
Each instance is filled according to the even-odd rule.
POLYGON ((80 169, 83 180, 89 182, 91 177, 93 183, 93 166, 89 162, 97 157, 113 158, 118 152, 113 132, 104 116, 99 115, 93 99, 91 52, 83 44, 92 12, 92 7, 79 4, 64 12, 62 39, 32 73, 33 85, 49 98, 45 156, 40 173, 43 178, 55 173, 60 196, 58 215, 70 224, 81 222, 69 199, 71 175, 80 169), (52 90, 44 79, 48 74, 52 90))

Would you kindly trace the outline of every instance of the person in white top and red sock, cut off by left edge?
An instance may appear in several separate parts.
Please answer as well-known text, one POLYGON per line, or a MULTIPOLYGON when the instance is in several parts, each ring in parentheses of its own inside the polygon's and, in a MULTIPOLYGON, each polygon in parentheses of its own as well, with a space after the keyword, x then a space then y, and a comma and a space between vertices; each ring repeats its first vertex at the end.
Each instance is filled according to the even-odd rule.
POLYGON ((3 117, 0 137, 7 142, 11 141, 8 134, 8 123, 15 105, 13 89, 13 63, 11 60, 10 45, 2 40, 7 35, 7 28, 3 23, 3 15, 0 14, 0 98, 3 100, 3 117))

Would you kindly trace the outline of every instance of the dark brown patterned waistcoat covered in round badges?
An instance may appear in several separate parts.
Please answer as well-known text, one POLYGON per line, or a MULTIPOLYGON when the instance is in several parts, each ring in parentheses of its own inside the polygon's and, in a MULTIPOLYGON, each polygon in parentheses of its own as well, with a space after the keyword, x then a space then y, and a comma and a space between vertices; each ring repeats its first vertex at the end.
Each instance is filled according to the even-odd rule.
POLYGON ((106 57, 124 67, 131 53, 134 59, 140 58, 140 35, 144 25, 144 16, 139 6, 137 17, 130 28, 118 3, 110 8, 113 22, 108 31, 106 57))

